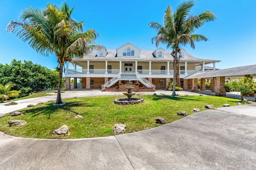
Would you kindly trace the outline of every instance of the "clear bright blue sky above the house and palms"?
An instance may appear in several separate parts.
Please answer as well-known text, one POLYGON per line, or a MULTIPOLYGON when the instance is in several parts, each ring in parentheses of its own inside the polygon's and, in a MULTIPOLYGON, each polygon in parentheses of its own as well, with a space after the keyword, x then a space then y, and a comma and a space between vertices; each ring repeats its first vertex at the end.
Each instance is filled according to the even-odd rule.
MULTIPOLYGON (((22 42, 12 33, 5 30, 11 20, 19 20, 22 10, 33 6, 44 8, 47 3, 60 5, 64 1, 3 1, 0 6, 0 63, 17 60, 33 61, 53 69, 57 60, 54 56, 44 57, 37 54, 27 43, 22 42)), ((108 49, 116 49, 130 42, 141 49, 155 49, 151 38, 155 30, 148 27, 150 22, 163 22, 163 14, 167 5, 174 9, 183 1, 173 0, 111 0, 111 1, 67 1, 75 6, 73 17, 84 21, 85 29, 95 29, 100 36, 95 43, 108 49)), ((206 23, 196 33, 209 38, 207 42, 196 43, 196 48, 185 49, 201 58, 221 60, 217 63, 220 69, 256 64, 256 13, 255 0, 214 0, 195 1, 191 13, 199 14, 209 10, 218 19, 206 23)), ((165 48, 165 45, 162 45, 165 48)))

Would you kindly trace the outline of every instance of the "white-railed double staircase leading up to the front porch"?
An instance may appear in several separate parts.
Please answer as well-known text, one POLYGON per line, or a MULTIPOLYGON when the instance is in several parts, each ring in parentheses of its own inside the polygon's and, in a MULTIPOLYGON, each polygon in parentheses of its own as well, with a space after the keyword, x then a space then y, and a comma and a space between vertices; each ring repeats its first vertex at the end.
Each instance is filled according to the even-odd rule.
POLYGON ((118 73, 107 81, 105 84, 102 85, 102 90, 104 90, 107 87, 113 86, 117 81, 119 80, 138 80, 141 82, 144 86, 148 88, 153 88, 155 90, 155 85, 152 84, 150 81, 147 79, 143 78, 138 72, 137 73, 118 73))

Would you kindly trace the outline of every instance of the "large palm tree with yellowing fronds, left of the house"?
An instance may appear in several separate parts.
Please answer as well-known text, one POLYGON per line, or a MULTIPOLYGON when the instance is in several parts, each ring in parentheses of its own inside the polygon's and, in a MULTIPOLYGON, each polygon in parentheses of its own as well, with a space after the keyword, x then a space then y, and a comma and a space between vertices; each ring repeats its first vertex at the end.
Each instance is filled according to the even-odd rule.
POLYGON ((7 31, 28 42, 39 54, 57 56, 59 82, 56 104, 62 103, 60 90, 65 63, 73 62, 74 57, 81 58, 94 49, 104 48, 91 45, 97 33, 93 29, 83 32, 84 22, 76 22, 71 17, 73 10, 74 7, 69 9, 67 3, 60 8, 47 5, 44 10, 30 7, 22 12, 22 22, 11 21, 6 26, 7 31))

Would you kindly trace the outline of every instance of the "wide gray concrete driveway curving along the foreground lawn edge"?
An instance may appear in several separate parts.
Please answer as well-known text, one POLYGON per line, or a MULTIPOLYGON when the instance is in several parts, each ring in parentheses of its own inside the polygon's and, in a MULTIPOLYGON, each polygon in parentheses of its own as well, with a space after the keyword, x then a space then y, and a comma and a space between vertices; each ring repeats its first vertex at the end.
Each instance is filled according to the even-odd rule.
POLYGON ((116 137, 46 140, 1 134, 0 169, 256 169, 255 129, 256 106, 246 105, 116 137))

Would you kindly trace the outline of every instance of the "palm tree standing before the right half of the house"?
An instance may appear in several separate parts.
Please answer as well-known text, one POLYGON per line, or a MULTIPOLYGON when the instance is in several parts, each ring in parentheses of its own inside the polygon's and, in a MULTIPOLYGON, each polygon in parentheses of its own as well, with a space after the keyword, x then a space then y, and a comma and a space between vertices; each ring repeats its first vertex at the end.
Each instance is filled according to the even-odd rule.
POLYGON ((152 43, 166 44, 167 48, 172 48, 171 55, 173 56, 173 92, 172 96, 176 96, 175 86, 180 86, 179 80, 179 53, 180 45, 190 45, 195 48, 194 41, 207 41, 208 39, 202 35, 194 35, 196 29, 204 23, 214 21, 216 16, 210 11, 205 11, 199 15, 191 15, 191 7, 194 6, 193 1, 181 3, 177 10, 173 13, 171 6, 168 6, 164 14, 164 24, 156 22, 149 23, 150 28, 157 31, 157 36, 152 38, 152 43))

